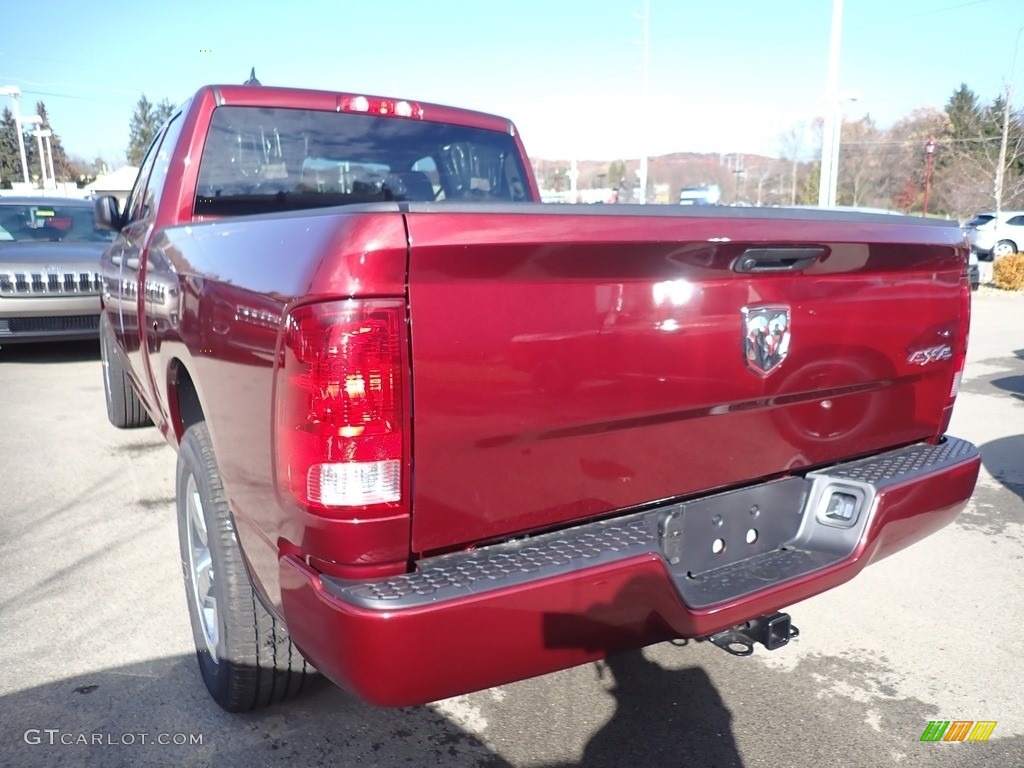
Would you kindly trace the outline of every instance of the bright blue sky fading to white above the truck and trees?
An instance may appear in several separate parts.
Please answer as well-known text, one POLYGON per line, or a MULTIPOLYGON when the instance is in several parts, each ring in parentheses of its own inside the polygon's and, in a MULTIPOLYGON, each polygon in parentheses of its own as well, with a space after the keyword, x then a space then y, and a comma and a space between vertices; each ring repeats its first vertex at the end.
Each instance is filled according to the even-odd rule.
MULTIPOLYGON (((115 166, 142 92, 179 102, 251 67, 266 85, 504 115, 540 158, 777 155, 822 114, 831 0, 649 2, 646 113, 643 0, 6 0, 0 86, 22 88, 25 113, 43 99, 70 153, 115 166)), ((962 82, 984 100, 1013 82, 1024 102, 1022 27, 1022 0, 845 0, 847 116, 885 126, 962 82)))

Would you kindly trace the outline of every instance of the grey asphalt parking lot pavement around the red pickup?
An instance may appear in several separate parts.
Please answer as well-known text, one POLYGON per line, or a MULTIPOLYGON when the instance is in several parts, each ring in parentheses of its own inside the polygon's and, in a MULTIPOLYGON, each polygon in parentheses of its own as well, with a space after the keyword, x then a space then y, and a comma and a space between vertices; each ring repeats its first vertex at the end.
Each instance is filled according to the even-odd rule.
POLYGON ((1024 766, 1024 296, 976 296, 950 430, 984 457, 968 510, 792 606, 787 647, 666 643, 403 710, 319 684, 221 712, 188 628, 174 454, 109 426, 98 344, 0 349, 0 406, 2 766, 1024 766), (930 720, 997 725, 922 742, 930 720))

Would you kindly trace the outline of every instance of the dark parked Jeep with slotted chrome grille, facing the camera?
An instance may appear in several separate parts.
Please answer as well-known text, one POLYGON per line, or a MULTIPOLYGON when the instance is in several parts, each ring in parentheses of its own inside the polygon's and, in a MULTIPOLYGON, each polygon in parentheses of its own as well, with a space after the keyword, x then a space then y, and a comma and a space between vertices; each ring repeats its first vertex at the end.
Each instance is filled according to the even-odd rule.
POLYGON ((113 238, 87 200, 0 198, 0 344, 96 338, 113 238))

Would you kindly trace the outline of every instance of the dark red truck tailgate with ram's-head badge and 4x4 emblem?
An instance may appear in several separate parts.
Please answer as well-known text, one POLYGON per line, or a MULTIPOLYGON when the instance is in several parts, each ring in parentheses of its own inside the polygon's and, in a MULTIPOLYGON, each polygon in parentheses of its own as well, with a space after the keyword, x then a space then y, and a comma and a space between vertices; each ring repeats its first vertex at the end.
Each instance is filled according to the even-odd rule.
POLYGON ((414 551, 942 429, 955 225, 630 208, 408 214, 414 551))

